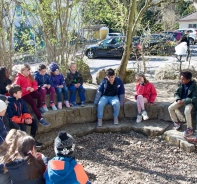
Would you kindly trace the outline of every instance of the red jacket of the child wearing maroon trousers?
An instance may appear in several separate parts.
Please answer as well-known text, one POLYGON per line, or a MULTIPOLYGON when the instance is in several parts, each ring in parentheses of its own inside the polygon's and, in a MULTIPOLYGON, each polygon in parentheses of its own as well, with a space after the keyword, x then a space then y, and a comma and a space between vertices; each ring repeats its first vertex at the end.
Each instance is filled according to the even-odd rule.
POLYGON ((22 96, 25 96, 25 95, 31 93, 30 91, 26 90, 27 87, 34 88, 34 91, 38 89, 38 84, 35 80, 32 81, 29 76, 25 77, 21 73, 17 74, 14 83, 18 84, 22 88, 22 96))

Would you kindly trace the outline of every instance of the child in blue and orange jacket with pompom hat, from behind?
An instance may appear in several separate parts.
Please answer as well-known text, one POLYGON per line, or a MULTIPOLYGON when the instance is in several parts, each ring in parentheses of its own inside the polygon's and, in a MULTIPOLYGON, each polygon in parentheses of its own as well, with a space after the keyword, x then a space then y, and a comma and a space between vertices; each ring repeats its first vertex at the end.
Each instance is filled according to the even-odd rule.
POLYGON ((56 156, 48 162, 44 173, 46 184, 91 184, 81 164, 74 158, 73 137, 60 131, 55 139, 56 156))

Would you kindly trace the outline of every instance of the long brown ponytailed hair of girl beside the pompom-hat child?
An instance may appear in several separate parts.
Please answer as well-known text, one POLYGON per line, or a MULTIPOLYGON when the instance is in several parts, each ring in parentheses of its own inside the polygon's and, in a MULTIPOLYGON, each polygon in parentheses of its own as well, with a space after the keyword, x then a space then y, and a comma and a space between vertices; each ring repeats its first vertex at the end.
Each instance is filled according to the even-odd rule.
POLYGON ((32 150, 35 149, 35 146, 36 142, 31 136, 21 137, 18 141, 18 152, 28 164, 29 179, 40 178, 46 170, 43 160, 37 159, 32 155, 32 150))

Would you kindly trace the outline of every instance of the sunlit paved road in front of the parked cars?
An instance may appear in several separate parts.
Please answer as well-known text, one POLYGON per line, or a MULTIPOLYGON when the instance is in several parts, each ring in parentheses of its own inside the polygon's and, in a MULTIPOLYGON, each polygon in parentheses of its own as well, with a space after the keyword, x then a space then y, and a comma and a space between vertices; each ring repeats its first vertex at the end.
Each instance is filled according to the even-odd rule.
MULTIPOLYGON (((191 46, 191 64, 197 66, 197 45, 191 46)), ((86 58, 87 59, 87 58, 86 58)), ((174 56, 146 56, 146 67, 149 73, 154 73, 162 63, 172 63, 177 59, 174 56)), ((96 82, 96 73, 100 69, 117 68, 120 65, 121 59, 117 58, 96 58, 87 59, 86 63, 90 66, 93 82, 96 82)), ((142 60, 136 61, 135 59, 129 60, 127 68, 137 69, 137 63, 142 63, 142 60)))

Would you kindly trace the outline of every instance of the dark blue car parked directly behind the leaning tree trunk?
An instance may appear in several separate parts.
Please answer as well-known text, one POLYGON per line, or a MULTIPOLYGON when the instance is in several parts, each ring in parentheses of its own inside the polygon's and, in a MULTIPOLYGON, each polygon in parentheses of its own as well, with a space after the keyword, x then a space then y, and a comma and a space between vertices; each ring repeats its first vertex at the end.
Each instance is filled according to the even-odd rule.
MULTIPOLYGON (((136 39, 135 37, 133 40, 136 39)), ((138 40, 140 40, 138 38, 138 40)), ((89 45, 85 49, 85 55, 89 59, 93 59, 95 57, 122 57, 124 52, 124 43, 125 37, 124 36, 115 36, 108 39, 105 39, 98 44, 89 45)), ((139 44, 133 43, 133 49, 131 53, 132 56, 140 56, 140 48, 138 47, 139 44)))

